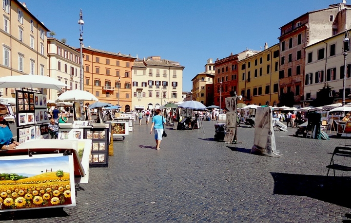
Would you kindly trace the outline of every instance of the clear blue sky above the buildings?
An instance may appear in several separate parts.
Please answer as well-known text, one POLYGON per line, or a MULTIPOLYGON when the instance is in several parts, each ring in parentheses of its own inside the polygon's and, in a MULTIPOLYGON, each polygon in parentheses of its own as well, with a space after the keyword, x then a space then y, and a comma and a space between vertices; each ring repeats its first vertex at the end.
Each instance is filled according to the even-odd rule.
MULTIPOLYGON (((307 12, 342 0, 25 0, 57 39, 79 48, 79 12, 85 47, 161 56, 183 70, 183 91, 209 58, 225 58, 278 43, 279 28, 307 12)), ((351 0, 348 2, 351 4, 351 0)))

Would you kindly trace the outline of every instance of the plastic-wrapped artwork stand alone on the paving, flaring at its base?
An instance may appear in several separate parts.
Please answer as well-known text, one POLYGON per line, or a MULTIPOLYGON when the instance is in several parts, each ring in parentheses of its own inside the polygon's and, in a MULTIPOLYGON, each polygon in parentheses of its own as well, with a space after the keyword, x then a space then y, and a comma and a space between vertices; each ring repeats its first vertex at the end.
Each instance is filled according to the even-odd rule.
POLYGON ((251 153, 279 157, 275 147, 272 106, 257 107, 255 117, 254 146, 251 153))

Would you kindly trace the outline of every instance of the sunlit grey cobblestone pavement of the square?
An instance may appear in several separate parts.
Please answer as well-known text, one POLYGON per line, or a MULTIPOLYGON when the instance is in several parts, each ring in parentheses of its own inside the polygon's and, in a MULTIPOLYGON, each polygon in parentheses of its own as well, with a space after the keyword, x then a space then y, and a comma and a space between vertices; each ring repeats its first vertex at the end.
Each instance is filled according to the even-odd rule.
MULTIPOLYGON (((215 121, 176 131, 156 151, 150 125, 114 142, 108 168, 90 168, 77 185, 77 206, 1 214, 13 222, 348 222, 350 174, 327 177, 336 145, 275 132, 282 157, 250 154, 254 128, 238 127, 237 144, 213 141, 215 121)), ((343 162, 349 162, 343 157, 343 162)))

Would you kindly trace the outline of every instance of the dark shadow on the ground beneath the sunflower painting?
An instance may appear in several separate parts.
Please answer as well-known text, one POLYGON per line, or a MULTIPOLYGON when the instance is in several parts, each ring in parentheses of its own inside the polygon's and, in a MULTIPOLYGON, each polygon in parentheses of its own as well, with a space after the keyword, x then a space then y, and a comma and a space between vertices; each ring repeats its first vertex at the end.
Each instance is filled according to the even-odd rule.
POLYGON ((55 218, 55 217, 67 217, 67 214, 63 207, 46 208, 43 209, 30 209, 20 211, 9 211, 0 214, 1 221, 12 221, 12 220, 25 220, 25 219, 42 219, 42 218, 55 218))

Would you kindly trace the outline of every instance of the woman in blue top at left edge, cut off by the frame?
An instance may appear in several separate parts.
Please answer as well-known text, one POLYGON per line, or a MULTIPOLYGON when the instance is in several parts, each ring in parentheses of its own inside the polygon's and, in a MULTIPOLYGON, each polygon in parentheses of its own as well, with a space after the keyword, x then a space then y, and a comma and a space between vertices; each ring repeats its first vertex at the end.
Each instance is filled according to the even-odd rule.
POLYGON ((6 105, 0 104, 0 150, 14 150, 20 143, 12 137, 9 124, 4 117, 7 115, 6 105))

